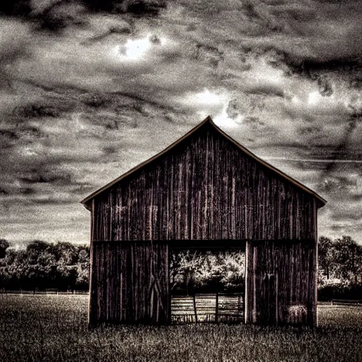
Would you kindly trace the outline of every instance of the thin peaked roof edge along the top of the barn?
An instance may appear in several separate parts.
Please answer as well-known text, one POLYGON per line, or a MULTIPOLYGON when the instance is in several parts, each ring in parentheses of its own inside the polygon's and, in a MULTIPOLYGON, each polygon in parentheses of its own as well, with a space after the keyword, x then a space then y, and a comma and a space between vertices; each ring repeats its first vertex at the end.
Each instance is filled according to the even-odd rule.
POLYGON ((177 139, 177 141, 173 142, 173 144, 170 144, 170 146, 166 147, 163 151, 160 151, 159 153, 157 153, 155 156, 152 156, 151 158, 148 158, 148 160, 145 160, 142 163, 139 163, 139 165, 136 165, 134 168, 131 168, 131 170, 127 171, 127 173, 124 173, 123 175, 117 177, 115 180, 109 182, 107 185, 100 187, 100 189, 96 190, 95 192, 93 192, 92 194, 90 194, 88 197, 86 197, 85 199, 83 199, 81 201, 81 204, 83 204, 86 209, 90 209, 89 206, 89 202, 98 194, 100 194, 101 192, 105 191, 106 189, 109 189, 110 187, 112 187, 113 185, 115 185, 117 182, 119 182, 120 180, 124 179, 125 177, 131 175, 132 173, 134 173, 136 170, 139 170, 140 168, 144 167, 145 165, 147 165, 148 163, 151 163, 153 160, 156 160, 156 158, 159 158, 160 156, 162 156, 163 154, 167 153, 168 151, 170 151, 170 149, 174 148, 177 144, 180 144, 181 141, 183 141, 184 139, 186 139, 188 136, 190 136, 191 134, 193 134, 195 131, 197 131, 197 129, 199 129, 200 127, 202 127, 204 124, 209 123, 211 124, 214 129, 216 129, 217 132, 219 132, 220 134, 222 134, 226 139, 228 139, 230 142, 232 142, 235 146, 237 146, 238 148, 240 148, 243 152, 245 152, 248 156, 254 158, 258 163, 261 163, 262 165, 264 165, 266 168, 269 168, 271 171, 273 171, 274 173, 280 175, 281 177, 283 177, 285 180, 288 180, 288 182, 293 183, 294 185, 296 185, 297 187, 299 187, 300 189, 303 189, 305 192, 308 192, 308 194, 311 194, 313 197, 315 197, 317 199, 317 201, 319 202, 319 206, 324 206, 326 204, 326 200, 323 199, 322 197, 320 197, 320 195, 318 195, 316 192, 314 192, 312 189, 306 187, 305 185, 301 184, 300 182, 298 182, 297 180, 294 180, 293 177, 290 177, 288 175, 286 175, 284 172, 282 172, 281 170, 278 170, 277 168, 275 168, 274 166, 270 165, 269 163, 267 163, 266 161, 262 160, 261 158, 257 157, 254 153, 250 152, 247 148, 245 148, 244 146, 241 146, 237 141, 235 141, 235 139, 231 138, 230 136, 228 136, 228 134, 226 134, 225 132, 223 132, 222 129, 220 129, 218 126, 216 126, 216 124, 214 123, 214 121, 211 119, 210 116, 207 116, 201 123, 197 124, 196 127, 194 127, 193 129, 191 129, 189 132, 187 132, 187 134, 185 134, 184 136, 182 136, 180 139, 177 139))

